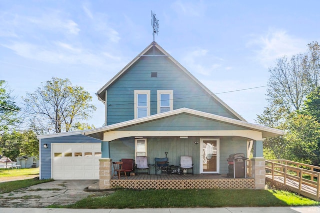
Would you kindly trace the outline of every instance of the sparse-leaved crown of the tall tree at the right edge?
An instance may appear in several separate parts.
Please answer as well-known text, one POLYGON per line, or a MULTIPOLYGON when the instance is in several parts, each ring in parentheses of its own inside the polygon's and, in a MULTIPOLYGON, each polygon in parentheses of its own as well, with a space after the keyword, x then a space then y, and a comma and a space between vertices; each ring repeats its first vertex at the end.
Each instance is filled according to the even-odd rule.
POLYGON ((269 104, 283 108, 287 114, 300 110, 303 100, 318 86, 320 78, 320 47, 317 42, 308 44, 303 54, 286 56, 276 60, 269 68, 267 100, 269 104))

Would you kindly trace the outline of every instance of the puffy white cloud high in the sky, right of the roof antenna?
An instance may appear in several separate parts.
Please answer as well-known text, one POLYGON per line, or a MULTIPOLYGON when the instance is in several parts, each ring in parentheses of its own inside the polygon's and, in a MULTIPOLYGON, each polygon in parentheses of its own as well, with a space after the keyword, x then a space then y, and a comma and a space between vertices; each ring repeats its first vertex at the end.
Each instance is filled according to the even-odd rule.
POLYGON ((304 52, 307 42, 287 34, 284 30, 269 29, 266 34, 255 36, 247 43, 247 46, 256 46, 256 59, 264 66, 268 66, 276 58, 284 55, 290 57, 304 52))

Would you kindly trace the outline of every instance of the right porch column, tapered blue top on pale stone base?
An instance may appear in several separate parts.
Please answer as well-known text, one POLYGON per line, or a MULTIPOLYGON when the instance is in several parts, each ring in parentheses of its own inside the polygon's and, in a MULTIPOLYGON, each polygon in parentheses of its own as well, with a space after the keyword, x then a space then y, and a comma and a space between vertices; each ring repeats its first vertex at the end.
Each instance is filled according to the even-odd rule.
POLYGON ((264 189, 265 160, 263 158, 262 141, 253 141, 253 158, 251 159, 251 163, 255 189, 264 189))

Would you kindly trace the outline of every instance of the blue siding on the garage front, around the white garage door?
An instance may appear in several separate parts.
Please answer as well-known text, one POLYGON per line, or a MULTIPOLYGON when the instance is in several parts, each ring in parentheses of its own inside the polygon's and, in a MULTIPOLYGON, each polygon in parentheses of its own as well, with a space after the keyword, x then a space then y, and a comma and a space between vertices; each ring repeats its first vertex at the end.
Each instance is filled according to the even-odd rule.
POLYGON ((40 179, 51 178, 51 143, 98 143, 100 140, 84 136, 72 135, 55 138, 43 138, 40 140, 40 179), (43 144, 48 144, 48 148, 43 148, 43 144))

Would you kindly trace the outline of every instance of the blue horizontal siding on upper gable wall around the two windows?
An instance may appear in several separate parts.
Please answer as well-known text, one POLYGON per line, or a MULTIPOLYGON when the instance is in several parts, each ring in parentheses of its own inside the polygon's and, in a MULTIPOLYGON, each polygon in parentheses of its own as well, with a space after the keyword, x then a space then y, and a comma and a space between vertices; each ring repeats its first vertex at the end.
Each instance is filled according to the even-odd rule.
POLYGON ((134 90, 150 90, 150 113, 156 114, 157 90, 173 90, 173 109, 190 108, 237 119, 167 57, 141 57, 107 90, 107 124, 134 119, 134 90), (157 72, 156 78, 150 73, 157 72))

